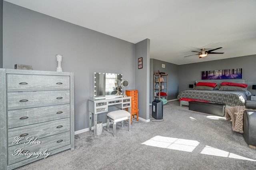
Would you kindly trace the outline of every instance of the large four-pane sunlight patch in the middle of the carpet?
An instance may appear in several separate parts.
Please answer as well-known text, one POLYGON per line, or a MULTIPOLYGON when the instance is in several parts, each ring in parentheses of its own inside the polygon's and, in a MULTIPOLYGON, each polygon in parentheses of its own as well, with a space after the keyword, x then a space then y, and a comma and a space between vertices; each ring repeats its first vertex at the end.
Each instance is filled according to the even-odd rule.
POLYGON ((142 144, 159 148, 192 152, 196 148, 196 146, 198 146, 199 142, 196 140, 154 136, 153 138, 147 140, 146 142, 143 142, 142 144))

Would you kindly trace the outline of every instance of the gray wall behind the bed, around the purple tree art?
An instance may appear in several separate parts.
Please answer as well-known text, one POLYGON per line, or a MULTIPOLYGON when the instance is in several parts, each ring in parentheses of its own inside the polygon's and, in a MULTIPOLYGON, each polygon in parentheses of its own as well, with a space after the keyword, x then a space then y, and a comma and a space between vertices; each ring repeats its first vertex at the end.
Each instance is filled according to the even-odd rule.
POLYGON ((256 55, 248 55, 229 59, 179 65, 179 92, 182 90, 188 90, 188 85, 194 84, 195 80, 201 80, 202 71, 242 68, 243 79, 247 79, 248 91, 250 91, 252 94, 256 94, 256 91, 252 90, 252 85, 256 84, 255 63, 256 55))

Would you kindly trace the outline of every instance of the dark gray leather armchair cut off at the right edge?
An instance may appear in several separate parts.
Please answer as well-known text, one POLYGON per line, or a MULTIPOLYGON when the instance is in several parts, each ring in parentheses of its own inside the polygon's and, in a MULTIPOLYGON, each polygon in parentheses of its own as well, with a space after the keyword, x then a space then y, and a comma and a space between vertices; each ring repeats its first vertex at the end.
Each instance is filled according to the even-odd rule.
POLYGON ((245 101, 245 107, 248 110, 244 111, 244 140, 251 147, 256 149, 256 101, 245 101))

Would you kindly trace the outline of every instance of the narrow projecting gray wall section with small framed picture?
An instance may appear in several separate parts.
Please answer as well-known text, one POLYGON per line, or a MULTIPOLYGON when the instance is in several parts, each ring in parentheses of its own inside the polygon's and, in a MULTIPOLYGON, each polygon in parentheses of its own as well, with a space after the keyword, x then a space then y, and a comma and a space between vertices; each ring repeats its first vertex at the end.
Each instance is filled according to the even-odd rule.
POLYGON ((138 89, 139 117, 150 121, 149 113, 149 70, 150 70, 150 40, 146 39, 135 45, 135 89, 138 89), (138 69, 138 58, 142 57, 142 69, 138 69))

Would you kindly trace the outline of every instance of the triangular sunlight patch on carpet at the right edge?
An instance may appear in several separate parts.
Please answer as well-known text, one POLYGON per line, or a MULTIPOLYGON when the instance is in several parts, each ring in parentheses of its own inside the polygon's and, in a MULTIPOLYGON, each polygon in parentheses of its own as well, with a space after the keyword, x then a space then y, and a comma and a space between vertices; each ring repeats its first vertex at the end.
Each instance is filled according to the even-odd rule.
POLYGON ((201 154, 207 154, 207 155, 214 155, 214 156, 222 156, 222 157, 227 157, 227 158, 235 158, 235 159, 242 159, 242 160, 250 160, 250 161, 256 161, 253 159, 249 159, 243 156, 239 156, 236 154, 232 154, 230 152, 226 152, 224 150, 216 149, 211 146, 205 146, 201 154))

